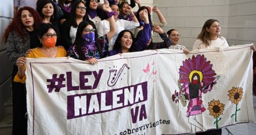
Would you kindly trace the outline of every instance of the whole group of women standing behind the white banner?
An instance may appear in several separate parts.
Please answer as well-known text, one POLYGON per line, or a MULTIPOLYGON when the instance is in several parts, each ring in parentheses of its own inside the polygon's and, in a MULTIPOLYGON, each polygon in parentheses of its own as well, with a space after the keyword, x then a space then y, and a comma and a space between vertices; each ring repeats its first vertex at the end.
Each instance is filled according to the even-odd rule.
MULTIPOLYGON (((166 21, 157 7, 152 11, 159 17, 158 24, 151 22, 149 8, 140 6, 139 0, 131 0, 131 4, 119 0, 99 2, 59 0, 57 4, 51 0, 38 0, 36 10, 21 7, 14 15, 3 36, 6 55, 13 61, 13 134, 27 134, 26 57, 70 56, 95 64, 106 56, 146 49, 170 48, 189 53, 186 47, 178 44, 180 34, 177 30, 163 32, 161 26, 166 21), (133 13, 135 3, 140 7, 133 13), (152 41, 152 30, 163 42, 152 41)), ((228 47, 226 39, 220 37, 219 21, 207 20, 193 49, 220 45, 228 47)))

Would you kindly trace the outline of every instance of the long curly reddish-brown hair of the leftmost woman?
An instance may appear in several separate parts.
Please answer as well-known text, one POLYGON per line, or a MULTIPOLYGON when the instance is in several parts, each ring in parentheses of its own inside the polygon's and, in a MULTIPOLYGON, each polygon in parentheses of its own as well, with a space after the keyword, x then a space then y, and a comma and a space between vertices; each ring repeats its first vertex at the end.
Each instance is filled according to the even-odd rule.
POLYGON ((33 16, 33 18, 34 18, 33 28, 34 29, 36 29, 37 26, 39 26, 41 24, 41 22, 42 22, 41 17, 39 16, 39 14, 37 13, 37 11, 35 9, 33 9, 32 7, 28 7, 28 6, 21 7, 20 9, 18 9, 17 13, 14 15, 13 21, 5 29, 5 33, 3 34, 3 42, 4 43, 7 42, 9 33, 12 31, 16 32, 18 34, 18 36, 20 36, 22 38, 23 41, 28 40, 28 39, 24 38, 25 34, 26 34, 26 28, 21 22, 21 13, 23 10, 28 10, 29 13, 33 16))

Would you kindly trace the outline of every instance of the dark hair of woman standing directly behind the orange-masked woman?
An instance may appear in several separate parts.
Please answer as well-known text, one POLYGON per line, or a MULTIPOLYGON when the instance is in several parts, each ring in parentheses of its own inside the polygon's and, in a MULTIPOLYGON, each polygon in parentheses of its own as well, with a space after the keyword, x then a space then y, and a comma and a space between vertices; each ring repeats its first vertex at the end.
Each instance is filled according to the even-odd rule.
POLYGON ((52 6, 54 7, 54 14, 52 14, 50 22, 54 22, 57 21, 57 7, 55 5, 55 2, 51 1, 51 0, 38 0, 36 2, 36 11, 39 13, 39 15, 41 16, 42 19, 44 19, 44 15, 42 13, 42 9, 44 8, 45 5, 47 5, 48 3, 52 3, 52 6))

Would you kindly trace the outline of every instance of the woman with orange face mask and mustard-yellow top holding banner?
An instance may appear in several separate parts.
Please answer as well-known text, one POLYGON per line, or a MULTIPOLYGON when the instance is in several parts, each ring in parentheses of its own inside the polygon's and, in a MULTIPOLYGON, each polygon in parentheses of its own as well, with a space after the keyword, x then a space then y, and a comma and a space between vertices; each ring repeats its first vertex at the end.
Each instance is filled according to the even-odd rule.
MULTIPOLYGON (((39 47, 31 51, 28 56, 30 58, 37 57, 65 57, 66 51, 62 46, 55 46, 57 41, 57 34, 54 25, 52 24, 41 24, 37 28, 37 35, 40 40, 39 47)), ((26 57, 19 57, 16 61, 18 65, 18 73, 14 78, 14 82, 25 83, 25 63, 26 57)))

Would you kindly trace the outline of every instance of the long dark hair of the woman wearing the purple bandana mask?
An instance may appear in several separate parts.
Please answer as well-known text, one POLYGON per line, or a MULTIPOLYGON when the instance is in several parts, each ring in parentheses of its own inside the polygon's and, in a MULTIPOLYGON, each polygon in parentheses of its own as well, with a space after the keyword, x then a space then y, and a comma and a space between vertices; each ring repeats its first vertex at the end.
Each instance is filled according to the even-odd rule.
POLYGON ((95 29, 95 46, 98 48, 98 51, 100 52, 100 57, 102 57, 102 48, 101 48, 100 41, 98 41, 98 33, 97 33, 96 26, 92 21, 82 21, 78 25, 77 36, 75 37, 75 42, 74 42, 74 45, 77 46, 79 60, 86 60, 85 54, 82 51, 82 47, 83 47, 82 34, 83 34, 83 29, 85 29, 87 25, 91 25, 95 29))

